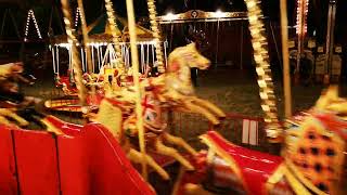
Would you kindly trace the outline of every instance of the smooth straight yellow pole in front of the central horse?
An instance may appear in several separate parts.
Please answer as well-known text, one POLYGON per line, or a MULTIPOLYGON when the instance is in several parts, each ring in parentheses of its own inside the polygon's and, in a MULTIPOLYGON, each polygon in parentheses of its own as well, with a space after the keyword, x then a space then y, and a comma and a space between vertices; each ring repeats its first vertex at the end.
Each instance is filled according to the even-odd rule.
POLYGON ((145 157, 145 143, 144 143, 144 128, 143 128, 143 117, 142 117, 142 102, 141 102, 141 89, 140 89, 140 79, 139 79, 139 54, 137 47, 137 34, 136 34, 136 22, 134 22, 134 11, 132 0, 127 0, 127 13, 128 13, 128 26, 130 34, 130 51, 131 51, 131 64, 132 64, 132 77, 134 82, 134 88, 137 91, 137 127, 139 130, 139 142, 140 151, 142 153, 142 177, 144 180, 147 179, 147 169, 146 169, 146 157, 145 157))

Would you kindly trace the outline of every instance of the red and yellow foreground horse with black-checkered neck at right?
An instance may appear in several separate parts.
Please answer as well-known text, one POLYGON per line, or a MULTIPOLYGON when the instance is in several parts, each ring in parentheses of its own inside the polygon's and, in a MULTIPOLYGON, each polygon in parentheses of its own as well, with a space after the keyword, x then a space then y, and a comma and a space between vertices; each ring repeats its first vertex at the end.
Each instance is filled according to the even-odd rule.
MULTIPOLYGON (((288 120, 282 157, 236 146, 214 131, 203 134, 209 151, 200 160, 210 169, 201 183, 234 194, 340 194, 347 100, 337 94, 331 87, 311 110, 288 120)), ((192 186, 208 188, 185 188, 192 186)))

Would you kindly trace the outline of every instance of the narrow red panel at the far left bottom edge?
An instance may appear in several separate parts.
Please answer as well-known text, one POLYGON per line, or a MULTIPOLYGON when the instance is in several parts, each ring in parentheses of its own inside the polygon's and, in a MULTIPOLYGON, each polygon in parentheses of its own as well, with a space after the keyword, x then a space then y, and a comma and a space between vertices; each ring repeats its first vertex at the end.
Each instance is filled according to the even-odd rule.
POLYGON ((11 130, 0 126, 0 194, 17 194, 11 130))

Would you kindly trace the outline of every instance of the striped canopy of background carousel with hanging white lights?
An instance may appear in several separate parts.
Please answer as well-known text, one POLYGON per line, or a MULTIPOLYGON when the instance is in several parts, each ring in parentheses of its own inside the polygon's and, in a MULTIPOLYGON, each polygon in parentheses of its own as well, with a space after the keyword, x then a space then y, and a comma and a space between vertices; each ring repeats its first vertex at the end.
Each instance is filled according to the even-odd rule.
MULTIPOLYGON (((77 14, 76 14, 77 15, 77 14)), ((77 16, 76 16, 77 17, 77 16)), ((77 20, 75 23, 77 24, 77 20)), ((121 37, 121 57, 125 62, 125 66, 129 68, 130 65, 130 46, 129 46, 129 31, 128 31, 128 22, 126 18, 123 18, 116 15, 117 23, 117 34, 121 37)), ((75 25, 77 26, 77 25, 75 25)), ((94 22, 87 26, 89 42, 88 47, 91 48, 92 55, 92 67, 93 72, 98 72, 102 66, 107 64, 107 61, 113 61, 116 55, 114 55, 114 46, 112 41, 112 34, 110 29, 110 24, 107 22, 107 15, 102 14, 94 22)), ((80 35, 80 29, 76 27, 75 32, 80 35)), ((146 65, 155 64, 155 41, 153 32, 140 25, 137 25, 137 37, 138 37, 138 47, 140 51, 140 66, 142 72, 145 72, 146 65)), ((167 51, 167 41, 163 42, 164 52, 166 58, 167 51)), ((53 56, 53 70, 55 74, 60 74, 60 52, 61 50, 67 49, 68 51, 68 66, 72 64, 72 53, 70 46, 67 43, 66 35, 55 36, 51 39, 51 51, 53 56)), ((66 50, 65 50, 66 51, 66 50)), ((82 62, 82 69, 87 70, 87 56, 86 51, 80 47, 80 57, 82 62)), ((166 62, 166 61, 165 61, 166 62)))

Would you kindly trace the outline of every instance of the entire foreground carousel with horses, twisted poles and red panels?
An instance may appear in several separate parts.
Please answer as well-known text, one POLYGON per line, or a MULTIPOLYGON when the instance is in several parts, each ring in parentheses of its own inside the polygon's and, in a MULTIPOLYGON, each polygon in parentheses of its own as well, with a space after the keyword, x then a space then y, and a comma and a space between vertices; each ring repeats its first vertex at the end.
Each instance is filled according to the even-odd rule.
MULTIPOLYGON (((147 5, 159 75, 141 79, 133 2, 127 0, 133 81, 119 88, 104 86, 98 110, 86 112, 88 122, 69 123, 40 113, 33 107, 38 104, 35 98, 18 98, 15 89, 4 88, 11 84, 9 77, 21 76, 23 66, 13 63, 1 67, 1 90, 9 98, 1 99, 0 109, 1 194, 342 194, 347 100, 332 86, 311 109, 291 116, 290 78, 285 77, 287 120, 280 121, 260 4, 256 0, 245 2, 265 113, 264 131, 269 143, 282 143, 281 155, 235 145, 217 132, 230 115, 196 96, 189 72, 190 67, 206 69, 210 62, 190 43, 175 49, 165 65, 153 0, 147 5), (210 123, 209 131, 200 135, 207 150, 196 151, 171 134, 163 117, 168 110, 203 115, 210 123), (30 129, 33 122, 41 128, 30 129), (177 177, 169 171, 175 165, 179 166, 177 177), (151 180, 153 174, 158 176, 155 181, 151 180), (163 191, 166 181, 174 185, 163 191)), ((105 5, 112 41, 118 46, 111 1, 105 0, 105 5)), ((281 1, 282 53, 288 72, 285 6, 281 1)), ((70 51, 78 56, 68 0, 62 0, 62 11, 70 51)), ((83 41, 89 40, 86 29, 83 41)), ((118 58, 113 66, 121 68, 124 62, 118 58)), ((79 57, 72 57, 72 68, 78 104, 88 107, 93 89, 86 84, 79 57)))

